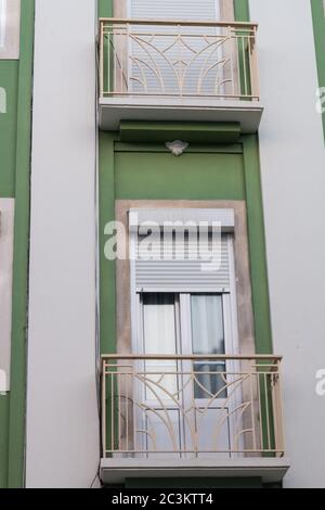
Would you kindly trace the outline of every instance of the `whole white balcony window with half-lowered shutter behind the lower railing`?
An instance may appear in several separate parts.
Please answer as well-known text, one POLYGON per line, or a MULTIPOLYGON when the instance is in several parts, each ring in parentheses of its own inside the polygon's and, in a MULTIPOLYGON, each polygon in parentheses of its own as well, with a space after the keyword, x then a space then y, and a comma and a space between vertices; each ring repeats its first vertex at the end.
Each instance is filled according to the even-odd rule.
MULTIPOLYGON (((156 437, 160 445, 158 450, 174 450, 171 441, 179 445, 180 451, 187 450, 192 441, 187 434, 188 430, 195 429, 197 409, 206 409, 213 396, 213 406, 199 429, 198 444, 202 450, 212 450, 213 428, 219 422, 221 448, 227 457, 229 437, 234 428, 227 417, 231 377, 227 374, 235 372, 235 362, 211 356, 238 353, 233 211, 131 211, 129 221, 132 345, 134 354, 144 356, 138 368, 150 381, 146 385, 140 381, 134 391, 141 406, 154 409, 145 422, 143 413, 138 413, 136 429, 145 431, 140 437, 142 449, 150 451, 150 438, 156 437), (206 220, 211 222, 208 225, 206 220), (214 222, 221 228, 217 240, 213 238, 214 222), (166 225, 169 226, 167 234, 166 225), (199 230, 194 225, 206 226, 204 250, 197 245, 199 230), (144 230, 150 232, 148 237, 144 235, 144 230), (205 270, 202 259, 196 259, 195 245, 200 255, 205 255, 206 248, 213 253, 213 243, 218 248, 216 254, 220 252, 219 258, 216 258, 216 265, 205 270), (166 355, 168 359, 164 358, 166 355), (188 384, 192 371, 195 378, 188 384), (195 401, 193 408, 196 411, 182 416, 179 398, 183 400, 183 409, 191 409, 188 403, 195 401), (173 434, 161 424, 166 409, 173 434)), ((205 455, 209 456, 208 452, 205 455)))

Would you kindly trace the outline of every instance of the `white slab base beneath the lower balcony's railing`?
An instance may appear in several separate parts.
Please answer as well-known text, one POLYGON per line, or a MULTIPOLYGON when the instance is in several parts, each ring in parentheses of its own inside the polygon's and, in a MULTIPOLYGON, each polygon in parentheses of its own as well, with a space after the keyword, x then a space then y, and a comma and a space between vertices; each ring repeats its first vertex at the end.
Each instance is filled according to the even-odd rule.
POLYGON ((106 458, 101 461, 101 480, 105 484, 117 484, 132 477, 260 477, 263 483, 277 483, 288 469, 288 459, 284 457, 172 461, 106 458))

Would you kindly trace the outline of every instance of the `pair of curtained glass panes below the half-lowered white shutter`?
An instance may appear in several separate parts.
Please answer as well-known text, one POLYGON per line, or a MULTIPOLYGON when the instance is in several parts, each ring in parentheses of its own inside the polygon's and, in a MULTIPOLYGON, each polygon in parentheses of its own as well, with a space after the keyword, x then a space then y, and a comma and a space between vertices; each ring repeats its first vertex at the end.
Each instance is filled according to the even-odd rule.
MULTIPOLYGON (((138 349, 143 354, 225 355, 233 352, 231 335, 225 331, 229 301, 222 294, 140 295, 142 320, 138 349)), ((147 371, 177 369, 177 362, 146 362, 147 371)), ((195 361, 197 384, 195 398, 208 398, 223 386, 224 361, 195 361), (220 377, 219 377, 220 373, 220 377)), ((176 384, 171 384, 174 392, 176 384)), ((220 397, 224 397, 222 392, 220 397)))

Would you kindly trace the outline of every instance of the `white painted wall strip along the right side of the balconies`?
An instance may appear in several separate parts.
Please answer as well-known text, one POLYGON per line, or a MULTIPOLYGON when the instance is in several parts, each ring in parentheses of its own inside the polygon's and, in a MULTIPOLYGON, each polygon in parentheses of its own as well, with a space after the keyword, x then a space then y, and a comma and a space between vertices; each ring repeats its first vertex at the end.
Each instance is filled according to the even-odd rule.
POLYGON ((250 0, 260 24, 260 130, 274 349, 284 355, 288 487, 325 487, 325 148, 309 0, 250 0))

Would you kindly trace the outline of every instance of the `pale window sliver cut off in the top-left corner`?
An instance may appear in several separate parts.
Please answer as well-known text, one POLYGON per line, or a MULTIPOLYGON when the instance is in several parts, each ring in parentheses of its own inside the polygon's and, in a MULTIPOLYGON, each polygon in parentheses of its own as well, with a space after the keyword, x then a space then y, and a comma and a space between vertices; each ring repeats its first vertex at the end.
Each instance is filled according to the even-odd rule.
POLYGON ((20 58, 21 0, 0 0, 0 59, 20 58))

